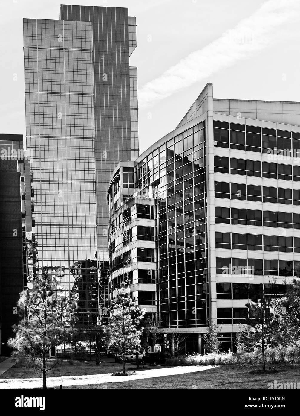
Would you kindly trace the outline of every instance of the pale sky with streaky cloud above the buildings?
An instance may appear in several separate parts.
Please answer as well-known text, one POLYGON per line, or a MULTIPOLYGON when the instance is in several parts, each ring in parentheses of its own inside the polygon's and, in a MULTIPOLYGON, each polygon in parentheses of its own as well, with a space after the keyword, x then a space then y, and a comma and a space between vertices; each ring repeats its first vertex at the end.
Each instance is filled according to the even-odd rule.
MULTIPOLYGON (((56 0, 0 2, 0 133, 25 135, 23 18, 56 0)), ((73 0, 136 16, 140 154, 169 133, 207 82, 215 98, 300 101, 300 0, 73 0)), ((299 123, 300 124, 300 123, 299 123)))

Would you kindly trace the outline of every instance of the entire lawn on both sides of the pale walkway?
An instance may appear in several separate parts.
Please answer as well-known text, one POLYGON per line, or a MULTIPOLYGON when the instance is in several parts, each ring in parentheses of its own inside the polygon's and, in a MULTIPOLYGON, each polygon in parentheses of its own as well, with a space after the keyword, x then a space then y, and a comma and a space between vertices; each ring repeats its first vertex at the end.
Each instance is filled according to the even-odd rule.
MULTIPOLYGON (((126 371, 136 370, 134 364, 126 364, 126 371)), ((147 366, 145 369, 161 368, 164 366, 147 366)), ((199 366, 199 369, 202 367, 199 366)), ((268 366, 267 366, 268 368, 268 366)), ((102 362, 61 361, 59 365, 48 371, 47 376, 77 376, 91 374, 106 374, 121 371, 122 364, 102 362)), ((271 364, 271 371, 261 374, 260 366, 254 365, 222 365, 214 369, 196 373, 162 376, 136 381, 116 383, 91 384, 76 386, 76 389, 268 389, 268 383, 277 380, 278 383, 299 382, 300 364, 271 364)), ((140 370, 143 370, 140 368, 140 370)), ((137 370, 138 371, 138 370, 137 370)), ((17 362, 7 370, 0 379, 39 378, 41 372, 17 362)), ((73 387, 66 387, 73 389, 73 387)))

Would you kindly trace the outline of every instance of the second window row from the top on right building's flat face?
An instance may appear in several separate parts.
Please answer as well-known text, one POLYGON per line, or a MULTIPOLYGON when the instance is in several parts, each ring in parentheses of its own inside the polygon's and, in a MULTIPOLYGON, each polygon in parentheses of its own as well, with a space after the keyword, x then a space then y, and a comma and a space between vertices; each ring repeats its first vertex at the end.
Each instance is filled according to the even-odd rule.
MULTIPOLYGON (((214 171, 229 173, 229 160, 231 174, 292 181, 292 166, 283 163, 214 156, 214 171)), ((293 181, 300 181, 300 166, 293 166, 293 181)))

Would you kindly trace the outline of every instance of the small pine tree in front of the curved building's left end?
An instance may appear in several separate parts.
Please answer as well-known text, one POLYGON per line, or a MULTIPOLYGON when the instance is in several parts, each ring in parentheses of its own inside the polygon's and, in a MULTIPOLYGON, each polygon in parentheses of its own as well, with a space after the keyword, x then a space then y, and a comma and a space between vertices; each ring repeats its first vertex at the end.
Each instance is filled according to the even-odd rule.
POLYGON ((120 283, 116 297, 111 302, 111 343, 123 351, 123 373, 125 373, 125 350, 140 346, 143 328, 139 322, 145 311, 135 305, 130 294, 125 289, 125 283, 120 283))

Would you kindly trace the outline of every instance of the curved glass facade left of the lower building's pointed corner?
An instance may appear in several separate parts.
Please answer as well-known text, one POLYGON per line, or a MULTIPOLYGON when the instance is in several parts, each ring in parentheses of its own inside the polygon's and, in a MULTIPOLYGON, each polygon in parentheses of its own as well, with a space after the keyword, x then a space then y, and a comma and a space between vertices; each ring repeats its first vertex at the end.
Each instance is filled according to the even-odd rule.
MULTIPOLYGON (((116 169, 108 192, 111 295, 125 268, 135 270, 138 304, 157 305, 155 326, 161 329, 208 324, 205 137, 205 121, 176 136, 167 136, 135 162, 135 189, 131 196, 123 186, 124 162, 116 169), (151 251, 146 241, 152 244, 151 251), (135 258, 134 250, 128 251, 131 242, 137 245, 135 258), (143 272, 146 269, 140 265, 148 261, 154 266, 150 274, 143 272), (152 296, 147 287, 154 283, 156 294, 152 296)), ((134 276, 128 280, 132 292, 134 276)))

